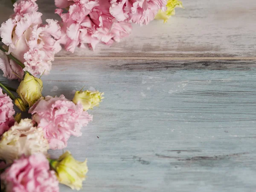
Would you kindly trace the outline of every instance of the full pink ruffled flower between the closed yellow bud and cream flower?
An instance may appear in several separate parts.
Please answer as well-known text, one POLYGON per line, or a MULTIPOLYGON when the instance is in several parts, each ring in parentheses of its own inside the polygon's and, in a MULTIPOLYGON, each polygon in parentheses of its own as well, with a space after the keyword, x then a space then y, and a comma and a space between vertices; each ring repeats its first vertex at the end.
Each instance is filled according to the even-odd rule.
POLYGON ((67 140, 71 135, 81 136, 81 128, 92 121, 93 117, 78 103, 60 97, 46 96, 36 102, 29 109, 32 119, 43 128, 44 137, 51 149, 67 147, 67 140))

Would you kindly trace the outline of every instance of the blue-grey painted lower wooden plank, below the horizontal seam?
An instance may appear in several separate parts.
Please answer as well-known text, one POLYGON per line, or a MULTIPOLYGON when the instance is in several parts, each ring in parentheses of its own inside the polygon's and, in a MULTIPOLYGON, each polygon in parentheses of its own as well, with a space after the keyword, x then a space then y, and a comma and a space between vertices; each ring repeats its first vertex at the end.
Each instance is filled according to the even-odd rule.
POLYGON ((90 111, 93 122, 65 149, 88 160, 82 192, 253 192, 255 67, 255 61, 56 60, 42 78, 43 94, 72 99, 84 85, 105 92, 90 111))

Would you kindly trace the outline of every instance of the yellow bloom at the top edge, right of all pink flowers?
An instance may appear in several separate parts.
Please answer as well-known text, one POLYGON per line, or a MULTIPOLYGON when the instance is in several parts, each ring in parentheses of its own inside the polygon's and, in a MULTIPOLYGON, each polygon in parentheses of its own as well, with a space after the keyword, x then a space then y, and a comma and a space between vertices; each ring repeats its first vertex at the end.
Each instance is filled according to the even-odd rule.
POLYGON ((183 8, 182 2, 179 0, 168 0, 166 4, 167 10, 166 12, 163 12, 162 10, 159 10, 157 15, 155 16, 155 19, 157 20, 163 20, 164 23, 167 22, 167 20, 172 16, 175 15, 175 8, 180 7, 183 8))

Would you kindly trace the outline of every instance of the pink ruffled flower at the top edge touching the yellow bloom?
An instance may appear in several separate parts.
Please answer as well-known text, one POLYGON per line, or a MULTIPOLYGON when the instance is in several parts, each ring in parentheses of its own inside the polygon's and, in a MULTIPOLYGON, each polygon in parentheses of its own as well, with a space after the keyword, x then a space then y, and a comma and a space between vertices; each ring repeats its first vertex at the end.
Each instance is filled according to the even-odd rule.
POLYGON ((162 9, 166 0, 111 0, 110 13, 118 21, 147 25, 162 9))

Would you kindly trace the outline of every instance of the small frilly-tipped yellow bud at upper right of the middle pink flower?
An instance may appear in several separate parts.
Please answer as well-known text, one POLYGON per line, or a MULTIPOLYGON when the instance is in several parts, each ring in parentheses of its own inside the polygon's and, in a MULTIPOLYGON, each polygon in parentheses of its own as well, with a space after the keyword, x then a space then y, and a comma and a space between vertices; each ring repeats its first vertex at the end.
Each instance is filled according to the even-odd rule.
POLYGON ((87 111, 95 106, 99 106, 99 102, 102 102, 102 99, 104 99, 102 97, 103 95, 104 93, 100 93, 99 91, 76 91, 73 102, 75 104, 81 102, 84 111, 87 111))

